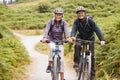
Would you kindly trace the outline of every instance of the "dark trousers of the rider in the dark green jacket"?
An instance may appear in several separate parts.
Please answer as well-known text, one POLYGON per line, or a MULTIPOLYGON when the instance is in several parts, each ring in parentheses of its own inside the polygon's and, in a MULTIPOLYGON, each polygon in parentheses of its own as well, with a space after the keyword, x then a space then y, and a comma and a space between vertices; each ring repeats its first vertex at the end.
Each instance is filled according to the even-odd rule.
MULTIPOLYGON (((74 62, 75 63, 79 63, 80 61, 80 53, 81 53, 81 50, 82 50, 82 43, 78 43, 76 42, 76 45, 74 46, 74 62)), ((90 44, 90 50, 91 50, 91 53, 92 53, 92 76, 95 76, 95 58, 94 58, 94 43, 91 43, 90 44)))

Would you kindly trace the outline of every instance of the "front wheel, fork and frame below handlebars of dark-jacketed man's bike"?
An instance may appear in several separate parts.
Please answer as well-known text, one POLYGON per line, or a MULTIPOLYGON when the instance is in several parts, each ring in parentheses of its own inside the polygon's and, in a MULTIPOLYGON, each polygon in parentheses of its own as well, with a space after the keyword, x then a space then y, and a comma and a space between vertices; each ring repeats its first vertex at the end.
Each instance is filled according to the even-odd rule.
POLYGON ((83 44, 83 51, 81 54, 81 66, 79 72, 79 79, 78 80, 90 80, 91 77, 91 52, 89 50, 89 44, 83 44))

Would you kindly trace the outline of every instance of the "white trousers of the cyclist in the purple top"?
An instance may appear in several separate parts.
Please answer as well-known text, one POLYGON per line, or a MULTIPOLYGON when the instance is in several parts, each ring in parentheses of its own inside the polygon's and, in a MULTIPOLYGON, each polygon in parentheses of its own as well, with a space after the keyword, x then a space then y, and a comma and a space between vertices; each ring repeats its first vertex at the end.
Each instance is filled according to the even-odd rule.
MULTIPOLYGON (((54 42, 50 42, 49 43, 49 47, 50 47, 50 53, 48 55, 49 57, 49 61, 53 61, 53 56, 54 56, 54 52, 53 50, 55 49, 55 43, 54 42)), ((60 56, 60 72, 64 72, 64 46, 63 45, 59 45, 59 56, 60 56)))

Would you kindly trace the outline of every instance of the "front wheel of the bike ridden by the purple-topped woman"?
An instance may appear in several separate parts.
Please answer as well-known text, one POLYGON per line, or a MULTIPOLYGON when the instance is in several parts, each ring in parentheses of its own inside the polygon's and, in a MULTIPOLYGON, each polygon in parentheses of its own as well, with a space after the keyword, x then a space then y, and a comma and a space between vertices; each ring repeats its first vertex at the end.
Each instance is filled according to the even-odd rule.
POLYGON ((53 59, 52 80, 59 80, 59 72, 60 72, 60 60, 59 57, 55 55, 53 59))

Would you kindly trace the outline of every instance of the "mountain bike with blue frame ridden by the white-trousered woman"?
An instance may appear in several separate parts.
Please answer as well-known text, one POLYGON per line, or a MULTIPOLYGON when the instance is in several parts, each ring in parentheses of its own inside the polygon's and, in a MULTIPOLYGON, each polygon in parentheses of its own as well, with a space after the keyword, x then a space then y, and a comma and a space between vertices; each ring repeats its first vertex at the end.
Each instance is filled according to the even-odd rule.
MULTIPOLYGON (((50 43, 50 41, 46 41, 47 43, 50 43)), ((60 73, 60 66, 61 66, 61 57, 59 56, 59 53, 61 52, 59 50, 59 46, 63 43, 67 43, 67 40, 54 40, 55 43, 55 49, 53 50, 53 61, 52 61, 52 69, 51 69, 51 76, 52 80, 59 80, 59 73, 60 73)))

